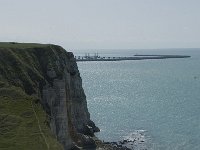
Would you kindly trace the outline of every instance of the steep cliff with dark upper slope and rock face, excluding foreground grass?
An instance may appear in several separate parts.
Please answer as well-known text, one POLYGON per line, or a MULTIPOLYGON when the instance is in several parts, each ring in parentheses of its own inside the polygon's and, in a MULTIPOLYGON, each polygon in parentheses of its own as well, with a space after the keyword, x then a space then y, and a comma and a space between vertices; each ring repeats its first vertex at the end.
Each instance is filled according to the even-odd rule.
MULTIPOLYGON (((71 52, 49 44, 1 43, 0 85, 0 102, 6 101, 1 91, 14 87, 31 97, 34 105, 41 105, 46 114, 42 123, 49 126, 65 150, 95 147, 91 136, 99 129, 90 120, 82 80, 71 52)), ((9 115, 9 110, 1 112, 0 107, 0 114, 5 112, 9 115)))

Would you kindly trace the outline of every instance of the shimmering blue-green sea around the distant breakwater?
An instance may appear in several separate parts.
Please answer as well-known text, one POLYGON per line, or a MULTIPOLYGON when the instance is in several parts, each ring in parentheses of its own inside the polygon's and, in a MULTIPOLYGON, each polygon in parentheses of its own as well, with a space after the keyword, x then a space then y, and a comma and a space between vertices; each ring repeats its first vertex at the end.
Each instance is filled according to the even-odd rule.
POLYGON ((135 150, 200 150, 200 49, 112 49, 98 54, 190 55, 77 64, 90 117, 101 130, 99 139, 142 138, 135 150))

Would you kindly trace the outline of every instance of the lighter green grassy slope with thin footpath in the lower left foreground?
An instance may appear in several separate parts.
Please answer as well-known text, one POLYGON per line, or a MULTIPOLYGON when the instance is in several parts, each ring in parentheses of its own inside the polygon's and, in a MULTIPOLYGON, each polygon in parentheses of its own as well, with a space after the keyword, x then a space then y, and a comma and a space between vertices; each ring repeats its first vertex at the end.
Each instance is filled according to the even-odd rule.
POLYGON ((46 113, 40 103, 36 102, 37 98, 28 96, 19 88, 0 88, 1 150, 62 149, 47 125, 46 113), (48 146, 40 132, 34 111, 48 146))

